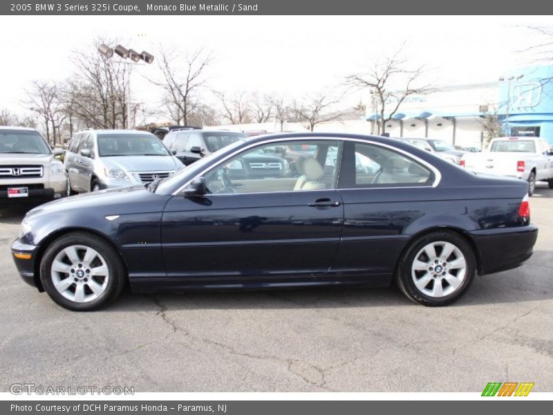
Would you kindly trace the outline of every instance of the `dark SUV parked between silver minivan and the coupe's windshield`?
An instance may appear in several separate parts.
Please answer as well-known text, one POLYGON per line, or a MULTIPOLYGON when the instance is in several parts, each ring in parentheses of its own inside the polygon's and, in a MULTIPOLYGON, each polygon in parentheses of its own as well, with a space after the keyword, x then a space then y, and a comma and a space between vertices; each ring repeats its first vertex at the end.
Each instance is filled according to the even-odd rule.
POLYGON ((191 165, 243 138, 247 138, 247 135, 232 131, 174 129, 163 138, 163 143, 171 151, 176 151, 176 156, 183 164, 191 165))

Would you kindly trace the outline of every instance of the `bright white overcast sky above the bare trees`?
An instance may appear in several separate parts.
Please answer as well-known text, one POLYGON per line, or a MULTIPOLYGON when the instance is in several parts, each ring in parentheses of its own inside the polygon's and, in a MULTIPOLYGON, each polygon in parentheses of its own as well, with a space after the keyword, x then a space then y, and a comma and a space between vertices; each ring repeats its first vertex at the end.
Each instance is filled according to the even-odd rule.
MULTIPOLYGON (((160 46, 179 53, 205 48, 214 62, 207 84, 216 91, 279 91, 294 97, 341 88, 357 73, 404 44, 409 64, 424 64, 436 85, 497 80, 516 66, 533 64, 529 46, 538 33, 527 26, 553 26, 551 17, 447 16, 54 16, 0 17, 3 39, 0 109, 24 113, 32 80, 63 80, 73 71, 73 50, 97 53, 97 37, 124 46, 160 46)), ((157 62, 136 68, 133 100, 156 105, 162 95, 149 78, 157 62)), ((366 92, 349 102, 368 101, 366 92)))

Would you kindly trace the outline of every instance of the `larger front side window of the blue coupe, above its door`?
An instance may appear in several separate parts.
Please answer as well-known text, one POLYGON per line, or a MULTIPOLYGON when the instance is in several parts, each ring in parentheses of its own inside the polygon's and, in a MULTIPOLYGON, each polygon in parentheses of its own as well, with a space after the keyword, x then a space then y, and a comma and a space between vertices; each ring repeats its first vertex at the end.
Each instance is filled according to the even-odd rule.
POLYGON ((260 145, 212 169, 205 175, 205 182, 214 194, 335 189, 339 153, 340 145, 335 140, 260 145))

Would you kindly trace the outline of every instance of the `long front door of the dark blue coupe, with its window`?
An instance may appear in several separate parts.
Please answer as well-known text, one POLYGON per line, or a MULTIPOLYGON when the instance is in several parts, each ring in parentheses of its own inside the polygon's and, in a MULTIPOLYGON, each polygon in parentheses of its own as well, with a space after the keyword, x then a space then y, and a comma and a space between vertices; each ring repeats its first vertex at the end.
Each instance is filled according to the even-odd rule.
POLYGON ((324 275, 339 246, 344 208, 335 190, 337 169, 324 168, 328 148, 339 148, 339 142, 317 145, 308 176, 290 174, 281 158, 281 172, 272 177, 230 181, 226 170, 266 147, 257 145, 203 174, 211 193, 173 196, 162 219, 168 277, 238 281, 324 275))

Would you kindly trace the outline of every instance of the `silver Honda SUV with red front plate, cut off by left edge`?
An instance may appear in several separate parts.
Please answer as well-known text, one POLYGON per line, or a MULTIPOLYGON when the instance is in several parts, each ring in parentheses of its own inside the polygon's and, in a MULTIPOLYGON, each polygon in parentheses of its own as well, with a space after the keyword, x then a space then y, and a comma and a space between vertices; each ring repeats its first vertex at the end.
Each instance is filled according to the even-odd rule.
POLYGON ((0 127, 0 199, 50 201, 65 196, 64 166, 56 158, 62 154, 63 149, 51 149, 35 129, 0 127))

